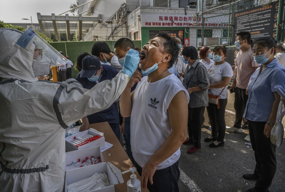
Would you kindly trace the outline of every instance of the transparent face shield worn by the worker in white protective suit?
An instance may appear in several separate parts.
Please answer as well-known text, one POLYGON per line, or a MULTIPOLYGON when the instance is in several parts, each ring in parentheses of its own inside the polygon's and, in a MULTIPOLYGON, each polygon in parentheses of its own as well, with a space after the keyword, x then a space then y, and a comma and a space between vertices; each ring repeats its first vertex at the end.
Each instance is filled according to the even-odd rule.
POLYGON ((35 76, 49 74, 50 65, 61 66, 68 62, 63 55, 31 28, 26 29, 17 44, 29 51, 34 51, 32 68, 35 76))

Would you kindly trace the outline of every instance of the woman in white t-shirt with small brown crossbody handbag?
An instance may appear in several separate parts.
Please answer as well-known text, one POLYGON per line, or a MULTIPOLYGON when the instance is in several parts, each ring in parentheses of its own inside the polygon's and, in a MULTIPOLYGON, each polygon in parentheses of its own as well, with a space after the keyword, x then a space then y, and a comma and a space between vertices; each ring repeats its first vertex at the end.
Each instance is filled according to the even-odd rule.
POLYGON ((226 132, 225 110, 228 98, 226 87, 232 79, 233 71, 231 65, 224 60, 227 56, 227 48, 225 46, 217 46, 213 52, 215 64, 208 70, 210 87, 209 106, 207 107, 212 134, 210 137, 205 138, 204 141, 214 141, 209 146, 217 148, 224 146, 226 132))

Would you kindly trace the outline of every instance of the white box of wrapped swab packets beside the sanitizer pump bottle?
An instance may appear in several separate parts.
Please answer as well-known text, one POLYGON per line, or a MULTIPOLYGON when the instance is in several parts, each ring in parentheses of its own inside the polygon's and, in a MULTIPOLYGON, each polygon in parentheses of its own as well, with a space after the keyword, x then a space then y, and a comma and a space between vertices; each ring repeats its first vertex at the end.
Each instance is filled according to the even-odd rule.
MULTIPOLYGON (((86 167, 81 167, 79 169, 67 170, 65 172, 65 192, 67 192, 67 185, 75 183, 75 182, 80 181, 82 179, 91 177, 95 173, 98 173, 98 174, 106 173, 108 175, 108 178, 109 178, 110 186, 102 188, 102 189, 93 190, 93 191, 96 191, 96 192, 115 192, 114 185, 116 185, 118 183, 123 183, 124 180, 123 180, 123 182, 120 182, 120 178, 122 179, 122 174, 118 174, 117 170, 114 171, 115 166, 112 164, 111 164, 112 165, 112 169, 111 169, 109 164, 111 164, 111 163, 109 163, 109 162, 108 163, 99 163, 99 164, 95 164, 95 165, 89 165, 86 167), (119 178, 119 180, 117 178, 119 178)), ((117 167, 115 167, 115 168, 117 168, 117 167)))

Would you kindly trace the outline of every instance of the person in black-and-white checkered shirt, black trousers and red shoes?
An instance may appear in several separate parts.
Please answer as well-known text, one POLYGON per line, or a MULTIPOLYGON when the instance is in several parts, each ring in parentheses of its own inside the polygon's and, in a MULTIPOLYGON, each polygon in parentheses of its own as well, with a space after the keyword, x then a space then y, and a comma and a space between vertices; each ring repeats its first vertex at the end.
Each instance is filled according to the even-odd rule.
POLYGON ((196 153, 201 150, 201 129, 205 106, 208 106, 210 81, 207 69, 198 60, 196 47, 185 47, 182 55, 189 63, 185 70, 183 86, 188 90, 190 95, 188 104, 189 139, 183 144, 192 144, 187 153, 196 153))

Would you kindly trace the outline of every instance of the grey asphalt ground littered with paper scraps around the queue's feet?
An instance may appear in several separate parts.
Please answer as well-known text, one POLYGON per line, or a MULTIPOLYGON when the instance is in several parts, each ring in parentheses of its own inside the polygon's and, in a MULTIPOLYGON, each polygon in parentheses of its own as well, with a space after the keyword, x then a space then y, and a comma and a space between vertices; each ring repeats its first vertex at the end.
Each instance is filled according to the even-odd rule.
MULTIPOLYGON (((228 91, 229 93, 229 91, 228 91)), ((231 127, 235 121, 234 94, 229 93, 225 113, 226 125, 231 127)), ((243 192, 254 187, 255 181, 244 180, 242 175, 253 173, 255 167, 254 151, 244 140, 248 129, 242 133, 226 132, 225 145, 210 148, 204 138, 210 136, 208 115, 205 110, 205 123, 202 128, 201 151, 188 154, 191 145, 181 146, 179 167, 181 192, 243 192)), ((283 119, 283 125, 285 121, 283 119)), ((269 188, 270 192, 285 191, 285 143, 276 149, 277 171, 269 188)))

